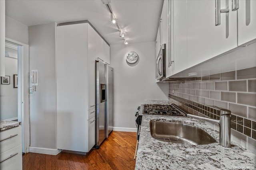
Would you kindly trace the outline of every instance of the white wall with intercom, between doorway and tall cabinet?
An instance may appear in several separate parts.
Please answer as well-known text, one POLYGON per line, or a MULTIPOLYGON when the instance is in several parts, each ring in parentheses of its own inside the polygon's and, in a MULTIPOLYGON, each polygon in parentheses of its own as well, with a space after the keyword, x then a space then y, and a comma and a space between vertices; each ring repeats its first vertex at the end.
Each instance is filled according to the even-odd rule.
POLYGON ((38 70, 38 86, 30 94, 31 147, 56 149, 55 36, 56 23, 28 27, 30 71, 38 70))

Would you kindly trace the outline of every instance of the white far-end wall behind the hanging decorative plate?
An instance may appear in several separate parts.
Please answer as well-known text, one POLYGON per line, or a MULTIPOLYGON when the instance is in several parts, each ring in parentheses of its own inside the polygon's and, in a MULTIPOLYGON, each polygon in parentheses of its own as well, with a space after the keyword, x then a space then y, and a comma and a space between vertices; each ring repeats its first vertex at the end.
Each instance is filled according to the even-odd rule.
POLYGON ((114 68, 114 127, 136 128, 134 115, 145 99, 168 100, 168 83, 155 82, 155 45, 155 42, 143 42, 110 46, 110 63, 114 68), (126 63, 129 51, 139 56, 135 64, 126 63))

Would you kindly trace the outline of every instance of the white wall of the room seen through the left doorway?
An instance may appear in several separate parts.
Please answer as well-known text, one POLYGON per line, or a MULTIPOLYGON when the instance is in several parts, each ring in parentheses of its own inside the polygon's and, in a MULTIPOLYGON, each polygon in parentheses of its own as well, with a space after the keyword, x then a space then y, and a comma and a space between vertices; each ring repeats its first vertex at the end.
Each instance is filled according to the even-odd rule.
MULTIPOLYGON (((9 48, 6 51, 16 54, 18 52, 9 48)), ((10 76, 10 84, 0 83, 0 120, 18 117, 18 88, 13 88, 13 74, 17 72, 18 59, 5 57, 5 75, 10 76)))

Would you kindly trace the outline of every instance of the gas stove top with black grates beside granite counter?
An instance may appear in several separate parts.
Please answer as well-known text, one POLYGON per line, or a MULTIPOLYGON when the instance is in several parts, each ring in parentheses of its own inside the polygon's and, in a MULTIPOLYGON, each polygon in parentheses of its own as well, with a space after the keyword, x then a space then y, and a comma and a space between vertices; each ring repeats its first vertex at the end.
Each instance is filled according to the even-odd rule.
POLYGON ((175 104, 144 104, 140 115, 157 115, 157 116, 185 116, 185 114, 175 104))

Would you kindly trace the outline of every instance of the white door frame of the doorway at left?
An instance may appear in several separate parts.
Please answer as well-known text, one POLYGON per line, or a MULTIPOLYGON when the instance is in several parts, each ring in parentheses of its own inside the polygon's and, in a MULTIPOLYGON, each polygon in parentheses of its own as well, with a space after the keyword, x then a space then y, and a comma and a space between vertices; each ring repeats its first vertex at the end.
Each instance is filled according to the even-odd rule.
POLYGON ((18 46, 18 121, 22 122, 22 152, 28 152, 29 130, 29 46, 5 38, 5 42, 18 46))

